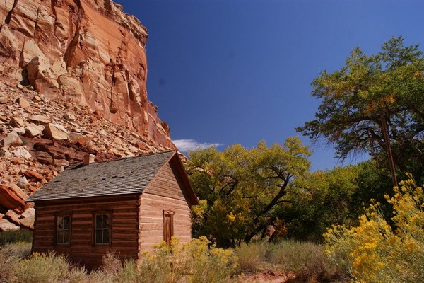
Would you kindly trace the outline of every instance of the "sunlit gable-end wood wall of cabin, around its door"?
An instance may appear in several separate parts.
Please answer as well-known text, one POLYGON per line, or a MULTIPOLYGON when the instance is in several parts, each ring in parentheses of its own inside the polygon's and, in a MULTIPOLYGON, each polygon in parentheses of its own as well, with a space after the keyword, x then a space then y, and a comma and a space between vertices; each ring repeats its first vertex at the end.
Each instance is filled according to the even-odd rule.
POLYGON ((163 241, 163 211, 174 212, 174 236, 181 242, 192 239, 190 207, 184 197, 176 168, 167 163, 140 197, 139 251, 151 250, 163 241))

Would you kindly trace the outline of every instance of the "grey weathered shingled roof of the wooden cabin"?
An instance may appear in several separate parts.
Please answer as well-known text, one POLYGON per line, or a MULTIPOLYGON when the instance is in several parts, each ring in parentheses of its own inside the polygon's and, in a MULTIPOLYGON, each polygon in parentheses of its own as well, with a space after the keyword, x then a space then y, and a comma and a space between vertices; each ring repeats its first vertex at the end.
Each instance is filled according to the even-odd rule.
MULTIPOLYGON (((182 167, 176 151, 69 166, 26 202, 141 194, 174 156, 182 167)), ((192 190, 190 185, 189 190, 192 190)))

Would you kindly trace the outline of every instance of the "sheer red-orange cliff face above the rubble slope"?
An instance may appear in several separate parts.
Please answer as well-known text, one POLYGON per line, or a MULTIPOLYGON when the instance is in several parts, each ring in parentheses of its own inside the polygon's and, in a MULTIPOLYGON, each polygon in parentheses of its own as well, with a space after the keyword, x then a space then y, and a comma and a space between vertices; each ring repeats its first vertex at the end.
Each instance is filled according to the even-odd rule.
MULTIPOLYGON (((146 28, 110 0, 0 2, 0 75, 175 149, 146 91, 146 28)), ((7 103, 2 96, 0 103, 7 103)), ((28 101, 20 101, 28 108, 28 101)), ((28 129, 28 136, 37 130, 28 129)))

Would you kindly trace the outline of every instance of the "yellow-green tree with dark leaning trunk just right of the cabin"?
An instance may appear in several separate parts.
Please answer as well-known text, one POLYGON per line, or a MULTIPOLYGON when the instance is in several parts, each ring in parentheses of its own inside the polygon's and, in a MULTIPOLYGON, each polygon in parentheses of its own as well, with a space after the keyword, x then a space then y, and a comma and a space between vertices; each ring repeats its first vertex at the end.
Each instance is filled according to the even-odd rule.
POLYGON ((283 146, 261 141, 254 149, 235 144, 190 152, 186 168, 201 200, 193 210, 194 235, 226 247, 249 241, 278 219, 278 207, 295 193, 293 180, 309 171, 310 154, 298 137, 283 146))

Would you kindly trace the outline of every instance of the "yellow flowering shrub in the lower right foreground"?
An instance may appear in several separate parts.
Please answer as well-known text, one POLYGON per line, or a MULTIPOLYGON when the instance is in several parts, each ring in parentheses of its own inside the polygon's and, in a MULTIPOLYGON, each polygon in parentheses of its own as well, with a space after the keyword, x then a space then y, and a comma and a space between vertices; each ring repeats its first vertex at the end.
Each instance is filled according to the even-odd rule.
POLYGON ((324 234, 326 254, 348 270, 353 282, 424 281, 423 188, 411 178, 395 187, 394 193, 386 196, 393 206, 394 228, 375 203, 358 226, 333 226, 324 234))

